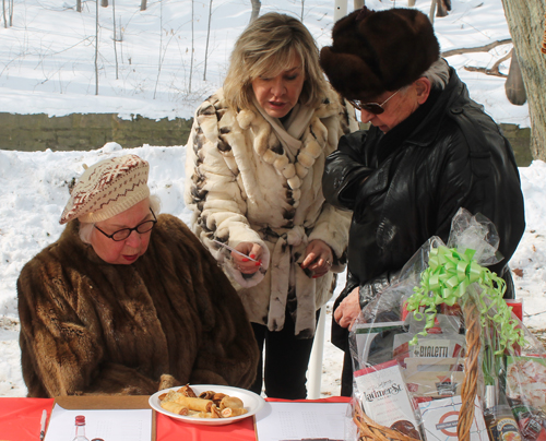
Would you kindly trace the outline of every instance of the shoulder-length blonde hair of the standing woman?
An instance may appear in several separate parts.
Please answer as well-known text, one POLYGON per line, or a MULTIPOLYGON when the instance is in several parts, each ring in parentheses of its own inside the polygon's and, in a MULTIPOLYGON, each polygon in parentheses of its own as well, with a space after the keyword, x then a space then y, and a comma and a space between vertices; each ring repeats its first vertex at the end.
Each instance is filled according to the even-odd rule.
POLYGON ((262 75, 275 76, 292 68, 295 55, 305 72, 299 102, 318 106, 327 94, 328 83, 319 64, 317 44, 299 20, 276 12, 256 19, 237 39, 224 81, 228 106, 251 108, 252 81, 262 75))

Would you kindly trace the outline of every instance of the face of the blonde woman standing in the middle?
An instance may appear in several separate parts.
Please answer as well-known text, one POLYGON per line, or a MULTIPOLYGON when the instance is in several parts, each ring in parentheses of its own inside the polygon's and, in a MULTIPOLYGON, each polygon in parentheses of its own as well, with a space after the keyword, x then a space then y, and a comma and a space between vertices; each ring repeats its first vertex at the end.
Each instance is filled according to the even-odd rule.
POLYGON ((286 70, 276 76, 264 73, 252 81, 258 104, 273 118, 283 118, 294 108, 304 88, 305 72, 301 60, 294 55, 286 70))

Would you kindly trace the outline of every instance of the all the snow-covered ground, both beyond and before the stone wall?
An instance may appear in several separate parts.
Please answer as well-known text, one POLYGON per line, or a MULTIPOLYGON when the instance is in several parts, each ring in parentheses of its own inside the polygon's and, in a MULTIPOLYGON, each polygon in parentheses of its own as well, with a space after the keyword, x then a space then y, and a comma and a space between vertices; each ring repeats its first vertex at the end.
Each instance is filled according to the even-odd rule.
MULTIPOLYGON (((262 1, 262 13, 280 11, 299 17, 304 11, 304 23, 319 46, 329 44, 332 1, 268 3, 262 1)), ((367 0, 366 3, 377 10, 407 4, 388 0, 367 0)), ((448 17, 435 20, 442 50, 482 46, 510 37, 500 0, 453 0, 452 3, 453 11, 448 17)), ((149 1, 147 11, 141 12, 138 3, 118 0, 116 23, 122 41, 117 45, 116 79, 112 8, 99 8, 99 87, 95 95, 95 3, 83 2, 82 13, 74 11, 74 4, 72 0, 61 5, 50 0, 15 1, 13 26, 0 27, 0 111, 50 116, 118 112, 121 117, 140 114, 157 119, 191 117, 201 99, 221 86, 233 43, 250 16, 248 1, 213 3, 204 81, 209 1, 149 1)), ((417 7, 428 13, 430 1, 417 0, 417 7)), ((119 35, 118 29, 117 38, 119 35)), ((474 99, 484 104, 497 122, 529 127, 527 106, 509 104, 503 79, 464 70, 464 65, 490 68, 510 48, 511 45, 503 45, 488 53, 450 57, 449 62, 458 69, 474 99)), ((508 72, 508 64, 501 65, 501 71, 508 72)), ((185 147, 153 145, 154 140, 150 140, 150 145, 131 152, 150 162, 150 183, 162 199, 162 211, 187 222, 189 212, 182 200, 185 147)), ((68 200, 67 182, 81 175, 82 164, 90 165, 127 151, 115 143, 90 152, 24 153, 1 147, 0 133, 0 396, 24 396, 26 388, 21 376, 17 342, 15 284, 19 273, 33 255, 59 237, 62 227, 58 219, 68 200)), ((534 162, 521 168, 520 174, 527 226, 511 267, 518 297, 524 299, 524 322, 539 330, 546 327, 546 206, 543 203, 546 164, 534 162)), ((343 281, 342 275, 337 291, 343 281)), ((329 310, 330 307, 331 303, 329 310)), ((329 342, 330 320, 329 314, 320 388, 323 396, 340 392, 342 353, 329 342)))

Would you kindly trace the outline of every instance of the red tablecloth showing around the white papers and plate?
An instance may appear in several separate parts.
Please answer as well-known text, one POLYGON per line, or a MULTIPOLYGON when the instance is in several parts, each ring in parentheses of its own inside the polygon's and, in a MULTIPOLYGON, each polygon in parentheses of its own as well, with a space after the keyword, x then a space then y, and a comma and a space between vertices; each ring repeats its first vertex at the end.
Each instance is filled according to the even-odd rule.
MULTIPOLYGON (((286 401, 270 400, 266 401, 286 401)), ((348 402, 331 397, 301 402, 348 402)), ((41 410, 51 415, 52 398, 0 398, 0 441, 37 441, 41 410)), ((157 414, 156 441, 256 441, 254 419, 246 418, 227 426, 192 425, 157 414)))

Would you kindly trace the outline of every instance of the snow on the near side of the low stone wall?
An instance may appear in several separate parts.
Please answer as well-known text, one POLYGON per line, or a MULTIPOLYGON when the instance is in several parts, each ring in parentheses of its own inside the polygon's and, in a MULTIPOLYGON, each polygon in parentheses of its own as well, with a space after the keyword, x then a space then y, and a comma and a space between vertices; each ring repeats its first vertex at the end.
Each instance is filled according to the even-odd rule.
MULTIPOLYGON (((80 176, 82 164, 94 164, 128 151, 107 144, 92 152, 8 152, 0 150, 0 396, 24 396, 20 369, 16 278, 24 263, 56 240, 59 217, 68 200, 67 183, 80 176)), ((162 199, 162 211, 188 222, 183 205, 185 147, 143 146, 131 150, 151 164, 150 183, 162 199)), ((511 260, 518 297, 524 299, 529 326, 546 327, 546 164, 520 169, 526 204, 525 235, 511 260)), ((343 286, 343 275, 339 289, 343 286)), ((330 311, 331 303, 328 310, 330 311)), ((330 344, 325 324, 322 395, 339 394, 342 353, 330 344)))

